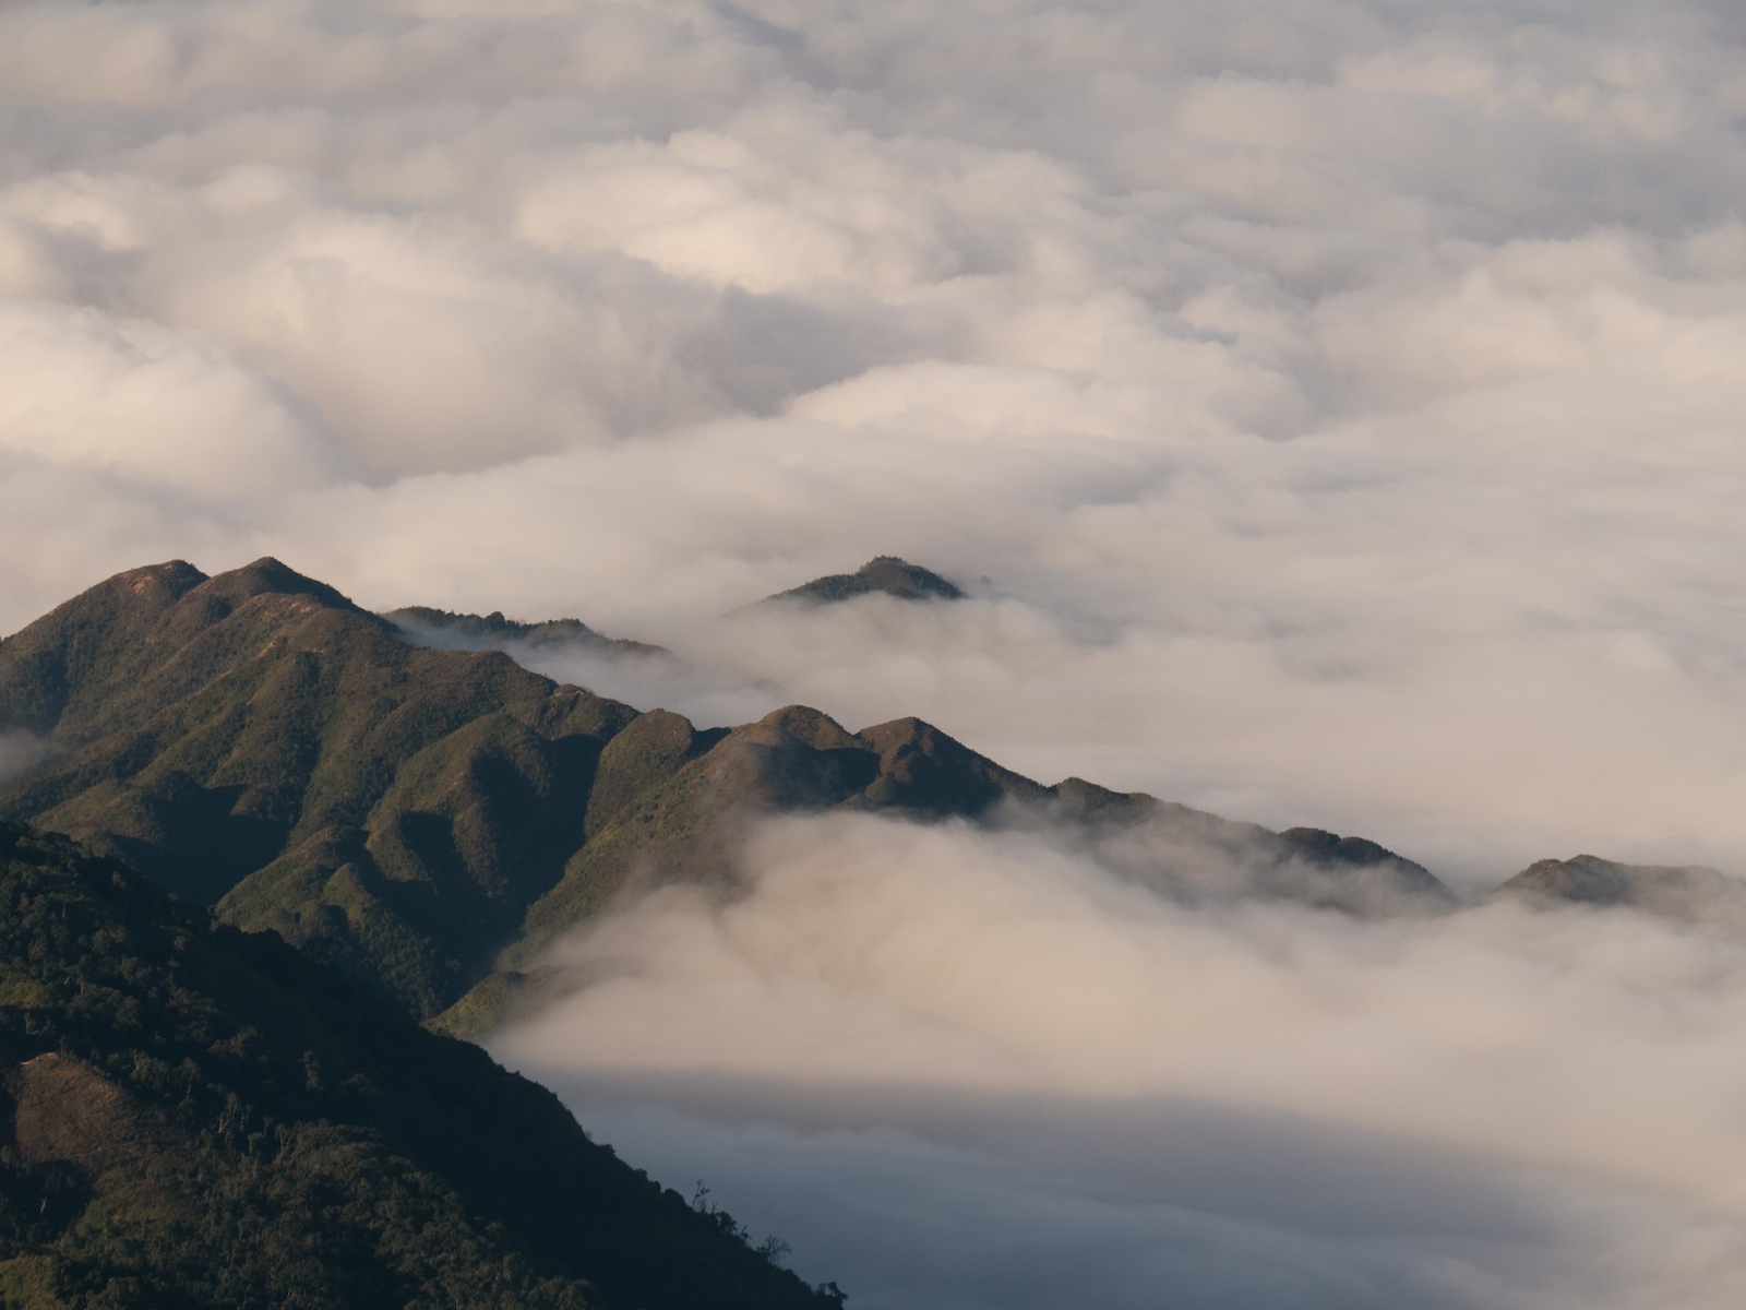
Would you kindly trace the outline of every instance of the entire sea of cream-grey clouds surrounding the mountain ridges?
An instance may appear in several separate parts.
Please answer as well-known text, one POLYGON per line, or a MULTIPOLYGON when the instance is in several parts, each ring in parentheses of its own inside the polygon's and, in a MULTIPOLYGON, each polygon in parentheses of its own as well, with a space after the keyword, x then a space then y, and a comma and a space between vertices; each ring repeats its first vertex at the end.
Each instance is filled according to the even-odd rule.
MULTIPOLYGON (((274 554, 662 643, 550 657, 639 707, 920 714, 1468 889, 1746 872, 1743 45, 1720 0, 0 2, 0 631, 274 554), (875 554, 971 599, 730 613, 875 554)), ((1227 922, 964 833, 873 859, 882 908, 768 840, 744 910, 592 940, 653 990, 538 1055, 663 1177, 800 1198, 859 1303, 1028 1305, 1046 1251, 1093 1310, 1741 1300, 1723 938, 1227 922), (772 957, 842 1067, 716 1067, 815 1031, 756 997, 622 1045, 714 1015, 794 887, 980 964, 772 957), (962 1001, 1027 966, 1077 1018, 962 1001), (856 1051, 910 1092, 852 1102, 856 1051)))

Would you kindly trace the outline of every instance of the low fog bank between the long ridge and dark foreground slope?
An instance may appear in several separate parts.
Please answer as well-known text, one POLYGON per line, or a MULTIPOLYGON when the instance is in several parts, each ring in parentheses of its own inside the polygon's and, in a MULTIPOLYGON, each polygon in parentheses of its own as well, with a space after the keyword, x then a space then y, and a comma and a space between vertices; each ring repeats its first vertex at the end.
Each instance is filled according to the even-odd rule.
POLYGON ((864 1310, 1746 1296, 1746 936, 1187 908, 866 816, 744 872, 567 943, 492 1051, 864 1310))

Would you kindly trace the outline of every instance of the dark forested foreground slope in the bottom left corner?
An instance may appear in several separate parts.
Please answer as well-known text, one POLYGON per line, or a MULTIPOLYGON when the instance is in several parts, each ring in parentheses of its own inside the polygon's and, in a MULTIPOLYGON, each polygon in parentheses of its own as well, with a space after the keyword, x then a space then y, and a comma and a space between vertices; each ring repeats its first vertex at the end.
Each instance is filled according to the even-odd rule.
POLYGON ((0 1303, 838 1305, 271 934, 0 826, 0 1303))

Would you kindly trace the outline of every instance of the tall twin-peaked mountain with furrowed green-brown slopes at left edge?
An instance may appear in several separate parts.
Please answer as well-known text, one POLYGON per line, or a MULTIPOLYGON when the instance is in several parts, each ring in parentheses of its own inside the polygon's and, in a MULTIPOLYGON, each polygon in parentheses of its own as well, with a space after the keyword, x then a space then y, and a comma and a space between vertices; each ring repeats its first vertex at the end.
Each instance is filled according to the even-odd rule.
POLYGON ((0 819, 66 831, 435 1013, 581 842, 636 711, 417 650, 276 561, 134 569, 0 643, 0 727, 66 749, 0 819))

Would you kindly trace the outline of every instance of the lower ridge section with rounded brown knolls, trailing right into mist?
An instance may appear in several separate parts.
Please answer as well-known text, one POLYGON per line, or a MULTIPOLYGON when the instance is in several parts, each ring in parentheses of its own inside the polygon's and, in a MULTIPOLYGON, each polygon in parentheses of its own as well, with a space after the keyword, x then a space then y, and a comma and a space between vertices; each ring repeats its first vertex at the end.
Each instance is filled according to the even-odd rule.
POLYGON ((1440 914, 1454 896, 1428 870, 1364 838, 1252 823, 1070 777, 1046 788, 904 718, 849 732, 787 706, 740 728, 697 732, 651 711, 601 753, 588 842, 527 910, 526 936, 433 1020, 482 1038, 562 994, 541 952, 627 887, 739 877, 739 838, 758 816, 883 812, 976 819, 1035 833, 1182 903, 1290 900, 1355 915, 1440 914))

